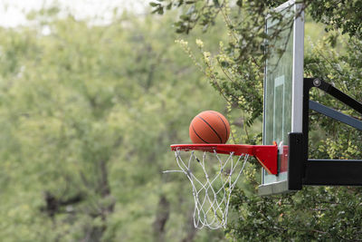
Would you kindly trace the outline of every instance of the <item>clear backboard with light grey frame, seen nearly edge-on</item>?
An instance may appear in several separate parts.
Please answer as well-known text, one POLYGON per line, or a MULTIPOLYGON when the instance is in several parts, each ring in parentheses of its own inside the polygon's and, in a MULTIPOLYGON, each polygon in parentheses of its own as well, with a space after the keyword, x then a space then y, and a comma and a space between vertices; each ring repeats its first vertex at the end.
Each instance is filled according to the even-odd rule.
POLYGON ((262 170, 260 195, 286 192, 288 188, 288 133, 302 131, 304 16, 302 5, 288 1, 274 11, 282 20, 266 19, 266 34, 279 32, 267 43, 264 73, 263 145, 279 146, 278 174, 262 170))

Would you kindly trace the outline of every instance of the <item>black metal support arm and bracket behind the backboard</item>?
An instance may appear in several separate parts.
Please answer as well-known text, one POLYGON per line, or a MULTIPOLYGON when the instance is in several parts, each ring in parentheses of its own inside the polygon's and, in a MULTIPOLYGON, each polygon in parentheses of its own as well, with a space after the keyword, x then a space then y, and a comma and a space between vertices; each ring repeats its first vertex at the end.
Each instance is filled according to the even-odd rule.
POLYGON ((289 134, 288 189, 298 190, 302 185, 362 186, 362 160, 313 160, 308 158, 310 109, 342 121, 357 130, 362 122, 344 113, 310 101, 310 89, 317 87, 362 114, 362 103, 320 79, 304 78, 303 127, 301 133, 289 134))

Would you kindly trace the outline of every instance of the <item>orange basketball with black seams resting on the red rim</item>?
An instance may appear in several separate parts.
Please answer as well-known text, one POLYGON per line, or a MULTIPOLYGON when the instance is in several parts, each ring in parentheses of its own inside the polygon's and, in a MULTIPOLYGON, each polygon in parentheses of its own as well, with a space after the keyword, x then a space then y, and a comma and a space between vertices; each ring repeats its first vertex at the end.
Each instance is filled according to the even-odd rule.
POLYGON ((230 125, 220 112, 203 111, 191 121, 189 135, 193 143, 224 144, 229 140, 230 125))

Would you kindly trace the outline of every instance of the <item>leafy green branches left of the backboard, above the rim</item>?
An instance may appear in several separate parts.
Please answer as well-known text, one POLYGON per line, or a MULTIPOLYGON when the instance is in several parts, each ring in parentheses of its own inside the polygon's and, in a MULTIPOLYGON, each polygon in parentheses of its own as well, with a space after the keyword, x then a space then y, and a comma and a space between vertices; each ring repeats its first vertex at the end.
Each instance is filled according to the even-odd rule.
MULTIPOLYGON (((178 4, 176 2, 170 1, 179 7, 186 5, 183 1, 178 1, 178 4)), ((196 65, 203 66, 202 72, 205 73, 214 88, 224 96, 229 106, 238 107, 245 113, 244 123, 251 126, 253 121, 262 115, 263 62, 269 54, 266 53, 265 39, 272 42, 284 27, 291 25, 292 18, 282 21, 280 28, 275 33, 266 35, 264 34, 265 17, 271 15, 271 18, 276 20, 281 20, 282 17, 280 13, 270 11, 268 5, 271 3, 269 2, 243 1, 240 5, 233 5, 229 1, 222 3, 219 1, 213 3, 197 1, 192 5, 194 9, 192 13, 200 16, 200 18, 202 16, 207 21, 203 22, 199 18, 193 19, 191 17, 185 19, 181 15, 181 20, 175 25, 187 25, 188 28, 186 30, 177 28, 176 32, 188 33, 195 27, 195 24, 201 24, 205 30, 211 23, 217 23, 216 17, 221 16, 228 38, 220 42, 216 54, 205 51, 198 44, 203 57, 201 63, 198 63, 195 57, 192 58, 196 65), (213 14, 205 14, 206 10, 213 14)), ((161 4, 158 5, 158 7, 161 6, 161 4)), ((186 15, 187 13, 189 11, 186 12, 186 15)), ((191 54, 185 46, 184 49, 186 49, 186 53, 191 54)), ((284 50, 278 51, 283 53, 284 50)), ((245 141, 248 143, 255 142, 253 139, 245 141)))

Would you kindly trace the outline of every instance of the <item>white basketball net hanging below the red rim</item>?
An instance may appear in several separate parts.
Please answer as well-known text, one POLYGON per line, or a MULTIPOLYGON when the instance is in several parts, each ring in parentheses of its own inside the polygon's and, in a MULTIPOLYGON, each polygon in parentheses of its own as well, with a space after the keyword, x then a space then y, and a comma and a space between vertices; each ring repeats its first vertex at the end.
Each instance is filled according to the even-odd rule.
POLYGON ((195 201, 195 227, 226 227, 230 197, 249 155, 234 156, 233 152, 219 155, 216 151, 192 150, 188 157, 187 153, 176 150, 179 169, 164 172, 182 172, 190 180, 195 201))

